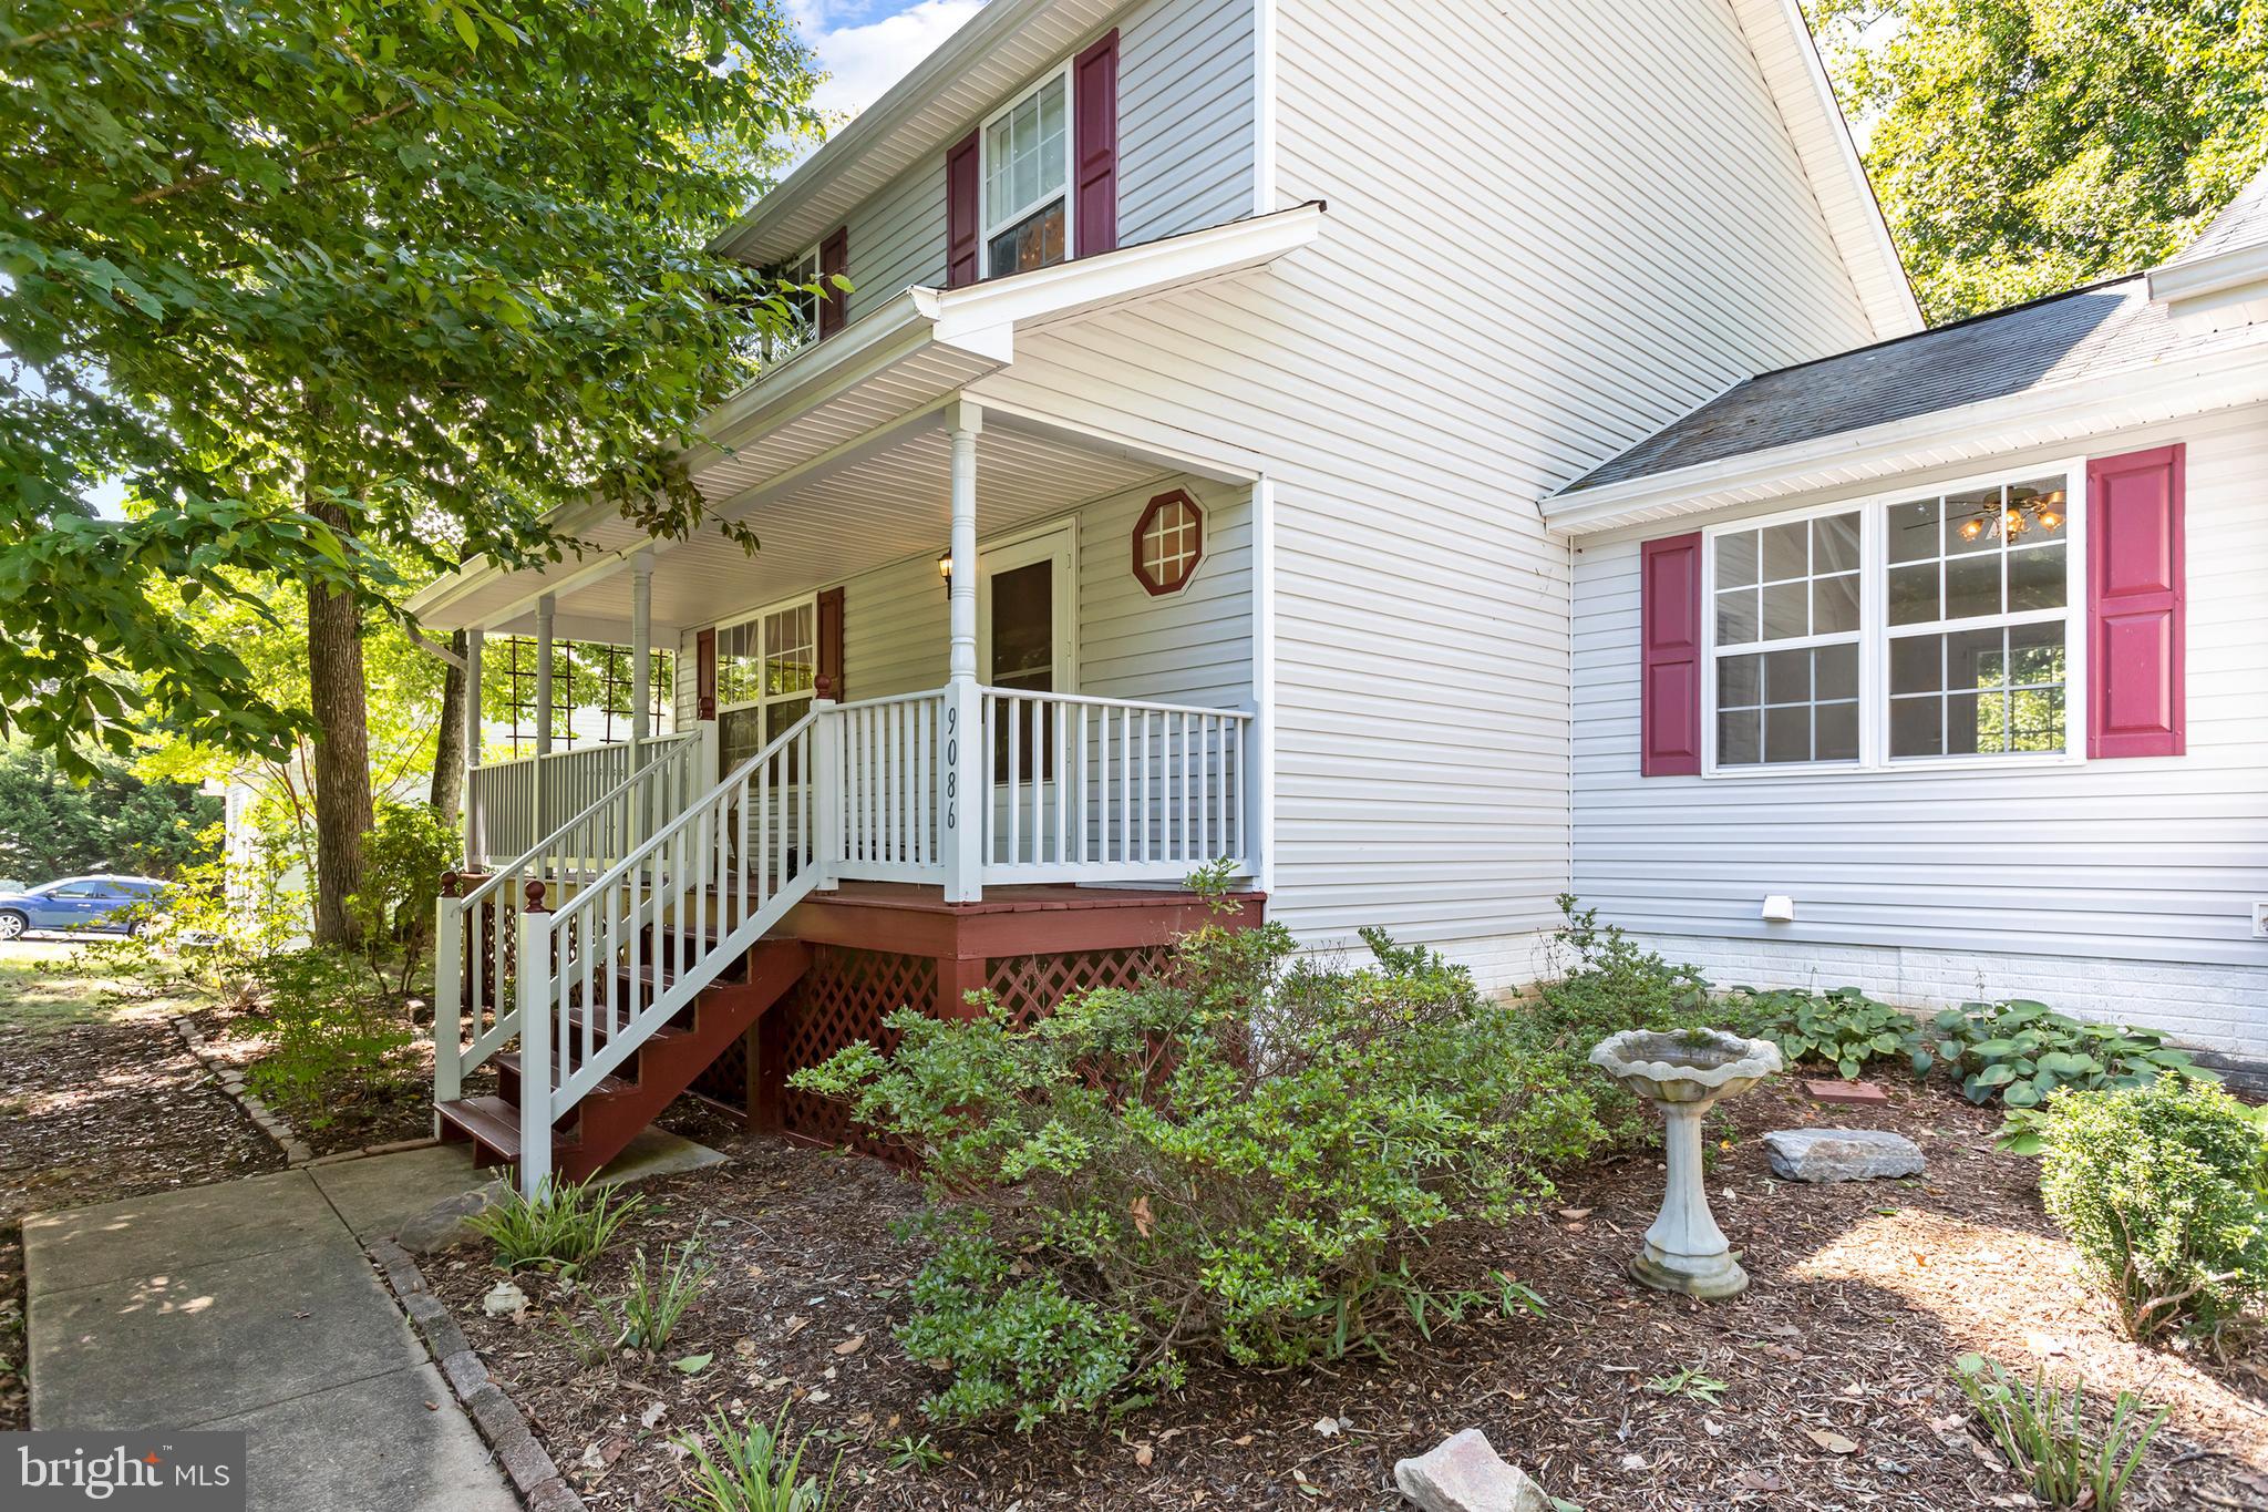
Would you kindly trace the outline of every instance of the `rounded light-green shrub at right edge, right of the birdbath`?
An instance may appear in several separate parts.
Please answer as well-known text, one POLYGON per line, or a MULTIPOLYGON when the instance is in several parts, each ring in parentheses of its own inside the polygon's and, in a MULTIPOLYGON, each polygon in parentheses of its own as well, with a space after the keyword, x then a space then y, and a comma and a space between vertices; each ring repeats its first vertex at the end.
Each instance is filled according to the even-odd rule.
POLYGON ((2268 1297, 2268 1133, 2216 1086, 2062 1093, 2039 1192, 2136 1340, 2220 1335, 2268 1297))

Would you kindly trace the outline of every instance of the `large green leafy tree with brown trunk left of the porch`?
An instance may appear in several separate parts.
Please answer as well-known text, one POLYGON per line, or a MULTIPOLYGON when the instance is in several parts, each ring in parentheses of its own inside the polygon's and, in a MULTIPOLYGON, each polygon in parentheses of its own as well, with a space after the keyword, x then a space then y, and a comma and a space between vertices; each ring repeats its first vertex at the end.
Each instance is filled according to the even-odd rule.
POLYGON ((810 57, 771 0, 0 0, 0 730, 79 771, 159 723, 311 737, 349 938, 370 619, 404 571, 556 560, 562 508, 703 524, 683 451, 789 317, 703 245, 810 57), (297 705, 168 612, 286 594, 297 705))

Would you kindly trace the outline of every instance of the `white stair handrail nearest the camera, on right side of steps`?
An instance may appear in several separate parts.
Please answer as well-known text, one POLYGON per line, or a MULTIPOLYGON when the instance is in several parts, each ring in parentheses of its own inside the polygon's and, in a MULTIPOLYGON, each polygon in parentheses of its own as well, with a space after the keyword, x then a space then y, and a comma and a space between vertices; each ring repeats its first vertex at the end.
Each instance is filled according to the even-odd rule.
POLYGON ((832 875, 826 821, 839 796, 826 789, 841 768, 839 734, 835 705, 814 698, 803 719, 574 898, 549 911, 522 909, 519 1188, 526 1195, 551 1174, 558 1120, 832 875), (776 884, 773 861, 782 873, 776 884), (644 970, 653 972, 655 993, 637 1004, 635 984, 644 970), (617 991, 624 979, 633 984, 628 1004, 617 991), (594 1034, 601 1025, 603 1034, 594 1034))

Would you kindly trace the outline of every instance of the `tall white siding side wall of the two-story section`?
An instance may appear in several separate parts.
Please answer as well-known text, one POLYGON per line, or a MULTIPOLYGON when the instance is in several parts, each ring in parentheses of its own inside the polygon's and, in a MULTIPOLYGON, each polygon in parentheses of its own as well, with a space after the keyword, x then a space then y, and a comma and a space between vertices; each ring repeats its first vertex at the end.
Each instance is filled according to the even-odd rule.
POLYGON ((1270 916, 1526 979, 1572 823, 1567 549, 1535 501, 1871 329, 1712 0, 1284 0, 1277 43, 1279 202, 1329 202, 1318 243, 1018 338, 975 392, 1270 474, 1270 916))

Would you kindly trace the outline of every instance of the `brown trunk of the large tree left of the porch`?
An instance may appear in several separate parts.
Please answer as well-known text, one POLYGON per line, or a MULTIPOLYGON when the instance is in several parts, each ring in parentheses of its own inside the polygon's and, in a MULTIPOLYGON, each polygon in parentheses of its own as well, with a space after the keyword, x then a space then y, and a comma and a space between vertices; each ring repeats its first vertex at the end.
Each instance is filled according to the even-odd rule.
MULTIPOLYGON (((347 512, 308 501, 308 512, 347 533, 347 512)), ((354 945, 361 929, 347 898, 363 886, 370 830, 370 721, 363 682, 363 612, 354 594, 306 589, 308 703, 315 714, 315 943, 354 945)))

